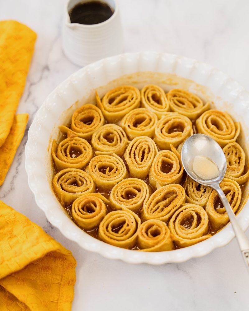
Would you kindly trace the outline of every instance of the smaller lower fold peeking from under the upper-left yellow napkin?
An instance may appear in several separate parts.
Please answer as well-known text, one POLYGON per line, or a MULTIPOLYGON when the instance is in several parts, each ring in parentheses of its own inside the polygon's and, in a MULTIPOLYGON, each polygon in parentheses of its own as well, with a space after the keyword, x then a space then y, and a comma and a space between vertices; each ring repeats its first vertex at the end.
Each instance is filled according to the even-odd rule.
POLYGON ((0 147, 0 186, 2 186, 4 182, 5 176, 16 154, 16 150, 20 145, 28 118, 28 114, 15 115, 10 133, 6 141, 0 147))

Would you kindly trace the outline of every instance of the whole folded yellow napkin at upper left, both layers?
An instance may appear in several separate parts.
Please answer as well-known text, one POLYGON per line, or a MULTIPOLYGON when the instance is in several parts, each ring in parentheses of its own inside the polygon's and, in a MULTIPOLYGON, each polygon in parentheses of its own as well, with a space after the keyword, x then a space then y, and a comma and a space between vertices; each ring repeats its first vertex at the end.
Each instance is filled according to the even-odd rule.
POLYGON ((24 135, 28 115, 16 115, 36 34, 17 21, 0 21, 0 186, 24 135))

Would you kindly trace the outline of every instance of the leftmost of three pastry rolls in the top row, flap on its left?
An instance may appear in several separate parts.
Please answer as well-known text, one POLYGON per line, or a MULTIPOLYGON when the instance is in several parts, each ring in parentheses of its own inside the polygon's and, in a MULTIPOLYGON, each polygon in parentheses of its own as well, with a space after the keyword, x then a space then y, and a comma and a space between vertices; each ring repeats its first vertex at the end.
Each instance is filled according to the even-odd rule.
POLYGON ((104 117, 109 123, 121 120, 132 109, 140 105, 140 91, 134 86, 118 86, 107 92, 100 100, 96 92, 96 101, 104 117))

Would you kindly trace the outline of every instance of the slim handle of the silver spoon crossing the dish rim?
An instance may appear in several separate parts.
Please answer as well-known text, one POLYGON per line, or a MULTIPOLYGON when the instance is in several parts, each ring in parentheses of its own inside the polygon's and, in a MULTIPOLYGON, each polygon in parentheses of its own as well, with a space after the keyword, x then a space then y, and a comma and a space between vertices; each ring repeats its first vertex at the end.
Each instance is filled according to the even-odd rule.
POLYGON ((229 204, 228 199, 225 196, 224 192, 221 190, 221 188, 218 185, 216 185, 216 187, 214 189, 218 193, 218 195, 219 195, 219 197, 223 203, 223 206, 226 209, 229 220, 233 226, 233 231, 236 235, 240 250, 242 252, 242 257, 245 261, 245 264, 246 264, 248 272, 249 272, 249 239, 247 238, 245 232, 241 229, 240 225, 238 224, 237 219, 236 219, 234 212, 232 210, 232 207, 229 204))

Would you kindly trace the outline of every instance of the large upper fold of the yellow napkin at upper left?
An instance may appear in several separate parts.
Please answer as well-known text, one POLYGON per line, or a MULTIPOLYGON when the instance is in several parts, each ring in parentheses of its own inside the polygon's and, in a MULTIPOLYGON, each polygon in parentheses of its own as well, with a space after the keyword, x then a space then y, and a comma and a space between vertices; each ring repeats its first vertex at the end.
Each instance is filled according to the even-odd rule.
POLYGON ((9 135, 34 51, 36 34, 17 21, 0 21, 0 147, 9 135))

